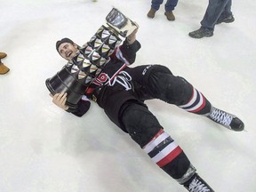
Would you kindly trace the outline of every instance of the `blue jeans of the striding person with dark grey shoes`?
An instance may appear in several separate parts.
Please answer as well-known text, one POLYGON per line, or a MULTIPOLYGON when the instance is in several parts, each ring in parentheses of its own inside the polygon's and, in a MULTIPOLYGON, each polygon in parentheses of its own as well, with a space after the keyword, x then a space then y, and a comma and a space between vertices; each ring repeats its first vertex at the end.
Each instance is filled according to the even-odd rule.
POLYGON ((220 17, 228 17, 231 12, 232 0, 209 0, 208 7, 200 22, 204 28, 214 30, 215 24, 220 17))

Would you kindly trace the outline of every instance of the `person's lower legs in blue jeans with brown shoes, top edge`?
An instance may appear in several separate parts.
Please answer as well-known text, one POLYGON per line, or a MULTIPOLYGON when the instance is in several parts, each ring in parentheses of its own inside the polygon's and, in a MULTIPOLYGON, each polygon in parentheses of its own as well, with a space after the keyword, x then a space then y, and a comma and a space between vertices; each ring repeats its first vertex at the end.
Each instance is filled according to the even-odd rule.
MULTIPOLYGON (((152 0, 151 1, 151 9, 148 12, 148 18, 154 18, 156 12, 159 10, 160 5, 163 4, 164 0, 152 0)), ((175 20, 175 16, 173 15, 172 11, 178 4, 178 0, 167 0, 166 4, 164 4, 164 15, 166 16, 167 20, 175 20)))

